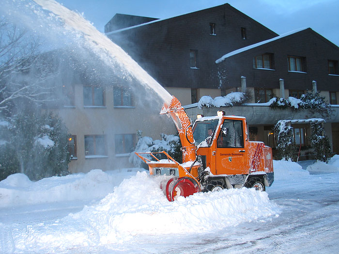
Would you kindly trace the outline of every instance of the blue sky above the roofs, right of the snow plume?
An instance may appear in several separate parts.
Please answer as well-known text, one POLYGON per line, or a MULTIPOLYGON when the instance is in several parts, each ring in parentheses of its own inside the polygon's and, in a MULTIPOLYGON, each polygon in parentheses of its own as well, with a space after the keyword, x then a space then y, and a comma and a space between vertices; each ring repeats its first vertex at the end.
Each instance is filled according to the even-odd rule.
POLYGON ((183 15, 224 3, 278 34, 311 28, 339 46, 339 0, 58 0, 101 32, 116 14, 155 18, 183 15))

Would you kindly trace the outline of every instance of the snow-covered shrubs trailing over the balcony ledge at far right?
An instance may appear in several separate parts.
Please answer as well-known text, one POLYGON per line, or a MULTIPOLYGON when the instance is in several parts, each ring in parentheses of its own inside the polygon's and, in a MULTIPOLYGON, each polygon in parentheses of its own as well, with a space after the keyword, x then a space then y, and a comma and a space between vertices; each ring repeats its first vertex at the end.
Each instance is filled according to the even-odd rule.
POLYGON ((311 113, 319 113, 323 117, 328 117, 331 114, 331 107, 328 103, 325 103, 324 97, 319 95, 319 92, 307 92, 301 96, 300 99, 294 97, 272 98, 270 100, 270 106, 273 108, 285 109, 292 107, 293 109, 310 109, 311 113))

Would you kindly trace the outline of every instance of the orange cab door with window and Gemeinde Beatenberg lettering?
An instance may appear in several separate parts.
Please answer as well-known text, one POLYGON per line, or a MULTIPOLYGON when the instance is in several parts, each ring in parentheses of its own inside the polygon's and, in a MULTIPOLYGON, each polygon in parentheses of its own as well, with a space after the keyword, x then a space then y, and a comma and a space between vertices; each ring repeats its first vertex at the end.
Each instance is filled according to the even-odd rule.
POLYGON ((220 126, 214 146, 216 151, 212 151, 212 159, 214 157, 216 160, 217 175, 246 174, 243 130, 242 120, 225 119, 220 126))

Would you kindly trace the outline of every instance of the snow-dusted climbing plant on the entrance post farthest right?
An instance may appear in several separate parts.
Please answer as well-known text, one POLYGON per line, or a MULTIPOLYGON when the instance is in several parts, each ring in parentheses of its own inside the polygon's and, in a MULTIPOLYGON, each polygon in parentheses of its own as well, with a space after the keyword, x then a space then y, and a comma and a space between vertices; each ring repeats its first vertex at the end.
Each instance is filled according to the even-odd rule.
POLYGON ((311 122, 311 135, 309 140, 315 151, 315 159, 328 163, 331 159, 331 146, 328 136, 326 136, 324 125, 321 122, 311 122))

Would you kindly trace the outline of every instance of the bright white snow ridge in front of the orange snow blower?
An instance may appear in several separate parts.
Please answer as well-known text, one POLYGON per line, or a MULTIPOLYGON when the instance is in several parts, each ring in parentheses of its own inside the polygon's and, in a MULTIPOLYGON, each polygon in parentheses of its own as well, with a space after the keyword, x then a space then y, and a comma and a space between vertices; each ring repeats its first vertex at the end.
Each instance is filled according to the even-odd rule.
POLYGON ((198 193, 169 202, 159 189, 161 179, 138 172, 96 205, 54 221, 53 230, 46 231, 46 224, 31 225, 17 249, 44 246, 46 250, 48 246, 62 251, 72 246, 126 243, 142 235, 160 239, 172 234, 194 235, 280 212, 267 193, 246 188, 198 193))

